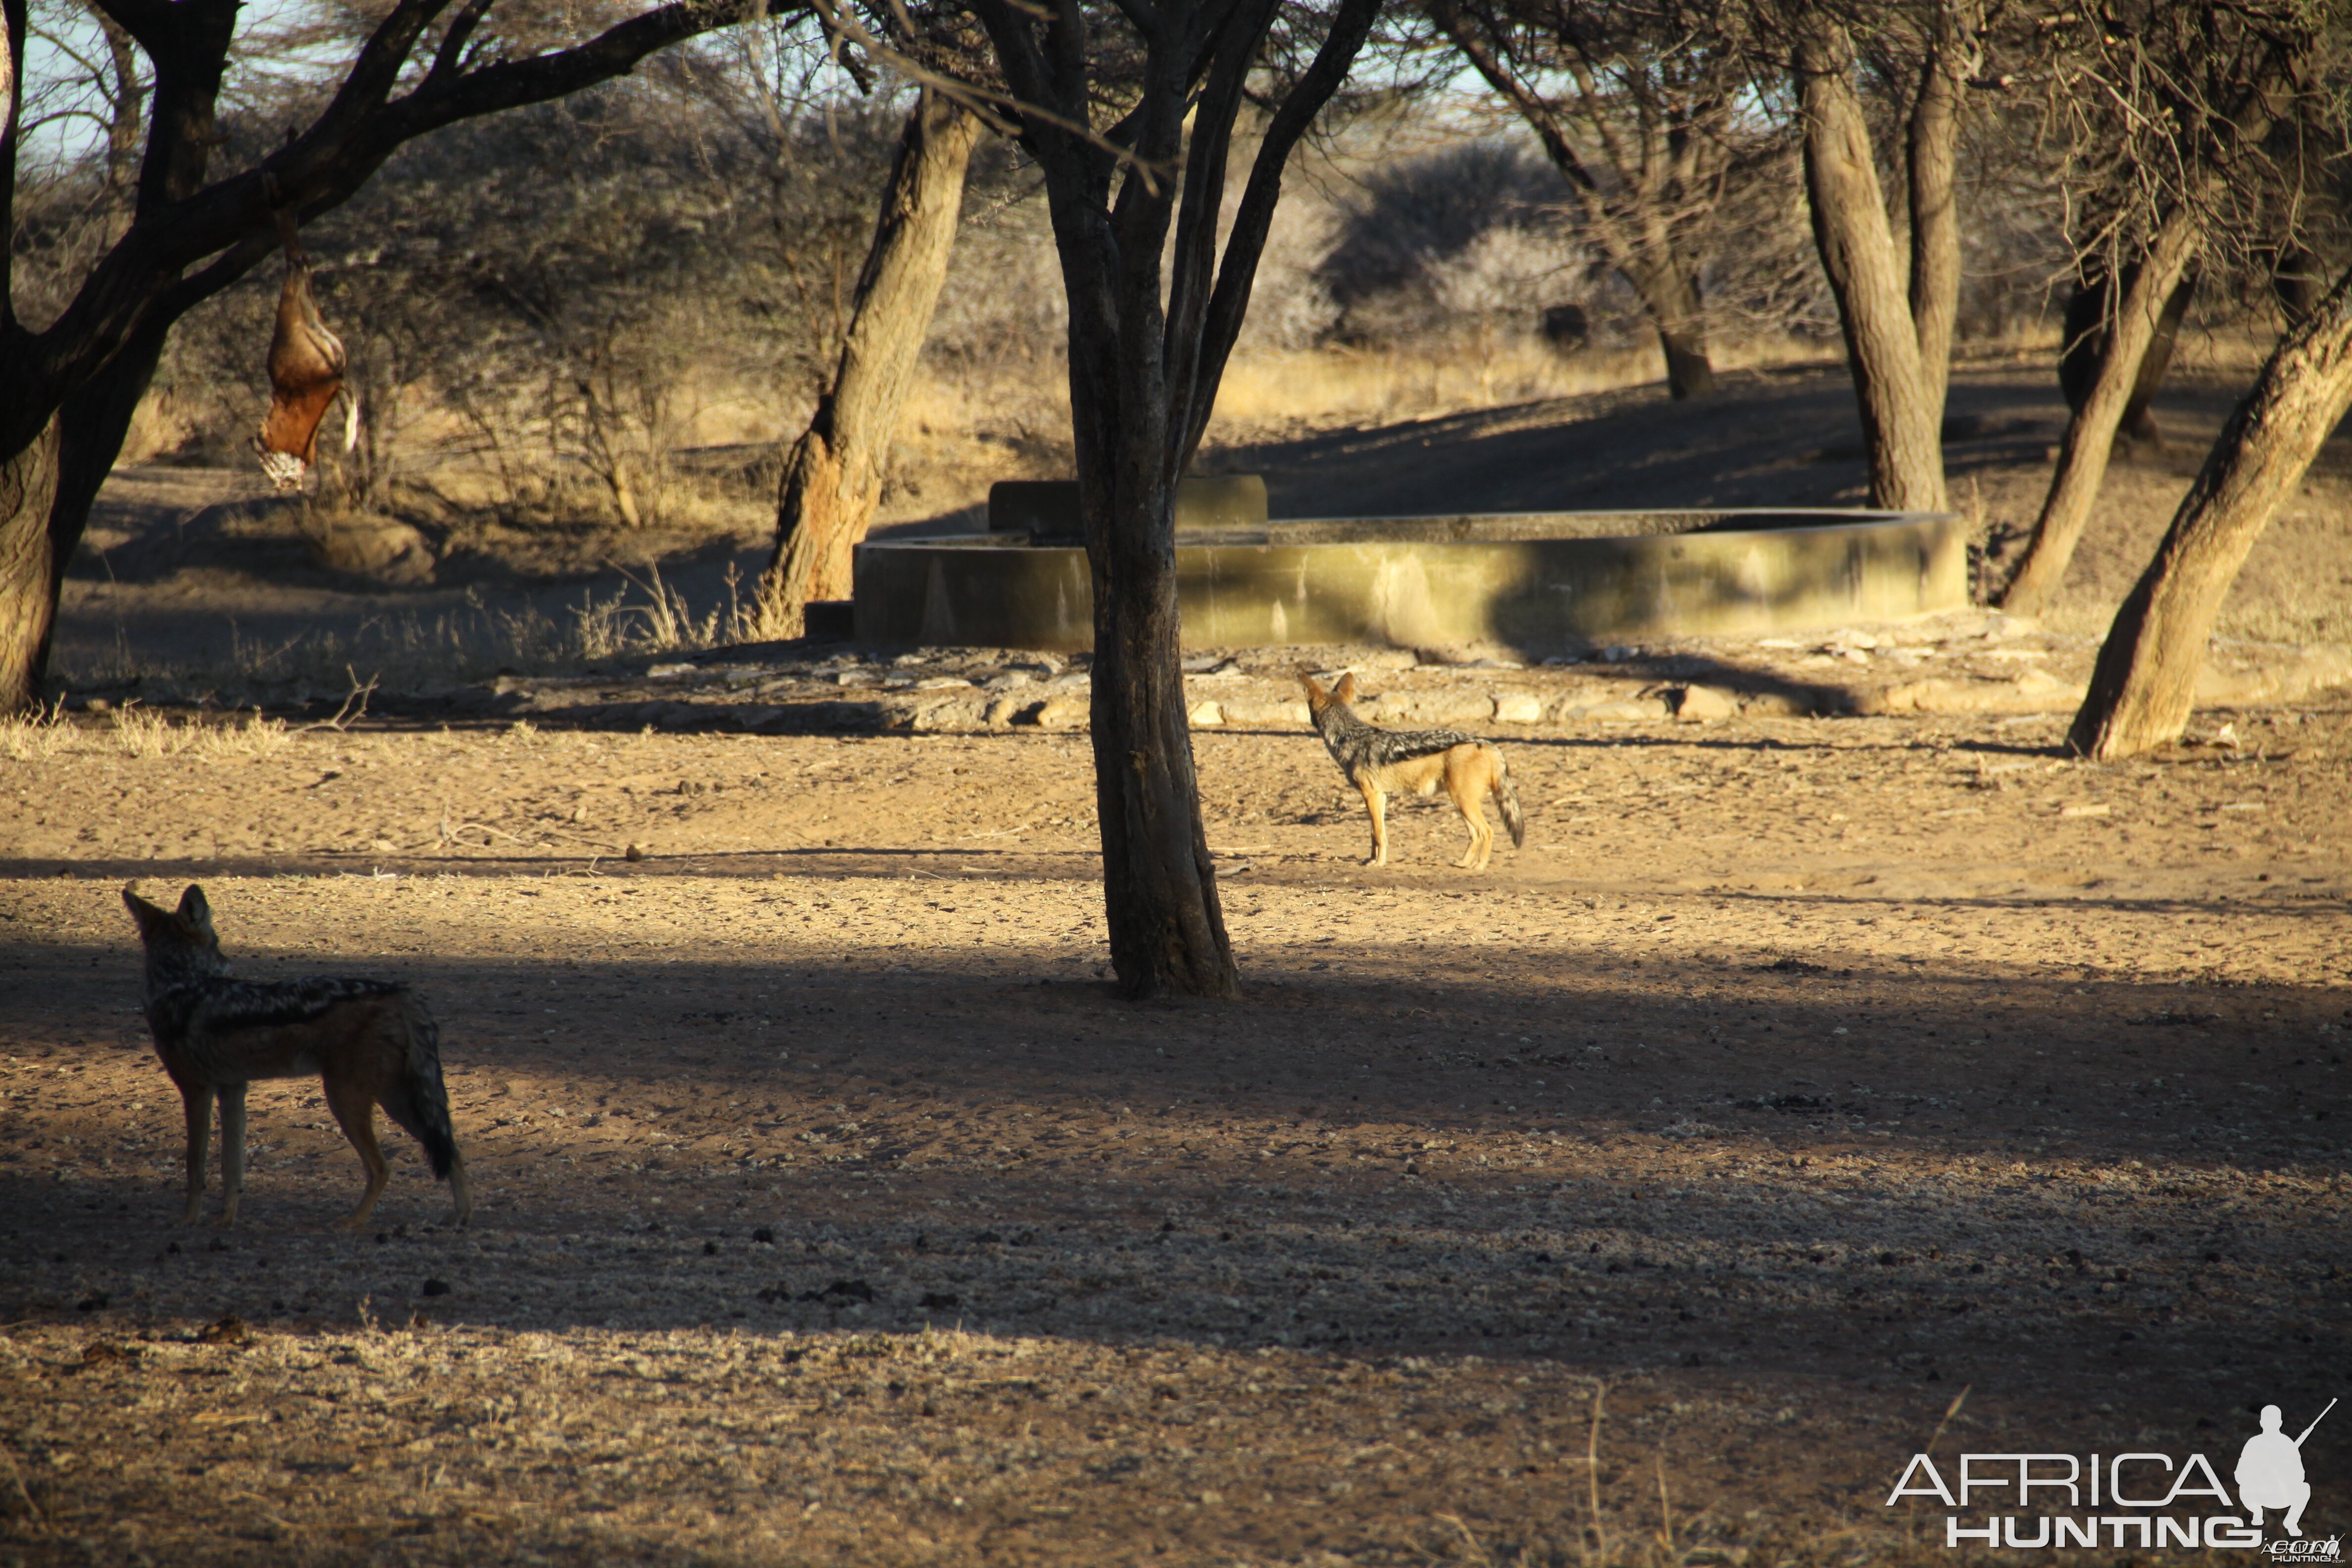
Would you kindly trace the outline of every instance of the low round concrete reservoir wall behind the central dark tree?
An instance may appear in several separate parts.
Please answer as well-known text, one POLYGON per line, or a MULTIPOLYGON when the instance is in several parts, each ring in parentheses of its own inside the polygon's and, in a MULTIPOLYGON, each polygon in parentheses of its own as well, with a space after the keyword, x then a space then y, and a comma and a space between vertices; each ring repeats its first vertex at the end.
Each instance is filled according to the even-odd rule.
MULTIPOLYGON (((1308 517, 1176 538, 1183 646, 1501 646, 1828 630, 1969 604, 1952 512, 1308 517)), ((1087 649, 1087 552, 1018 536, 858 548, 870 644, 1087 649)))

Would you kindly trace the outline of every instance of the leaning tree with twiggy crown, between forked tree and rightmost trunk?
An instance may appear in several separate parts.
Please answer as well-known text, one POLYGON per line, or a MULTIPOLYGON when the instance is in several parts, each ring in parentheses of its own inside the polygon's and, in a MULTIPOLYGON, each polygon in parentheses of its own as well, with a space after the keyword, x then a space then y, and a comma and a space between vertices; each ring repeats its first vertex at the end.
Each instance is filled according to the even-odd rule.
POLYGON ((2077 21, 2053 38, 2051 103, 2074 148, 2067 179, 2103 197, 2089 205, 2096 228, 2077 235, 2084 289, 2096 292, 2082 315, 2096 308, 2096 331, 2070 320, 2063 353, 2089 357, 2089 371, 2074 371, 2082 390, 2070 388, 2058 465, 2002 609, 2030 616, 2058 595, 2114 437, 2133 407, 2145 418, 2145 395, 2171 357, 2199 256, 2244 226, 2230 209, 2260 207, 2260 188, 2307 179, 2281 172, 2265 141, 2319 38, 2310 16, 2298 5, 2272 14, 2150 7, 2138 26, 2077 21))

